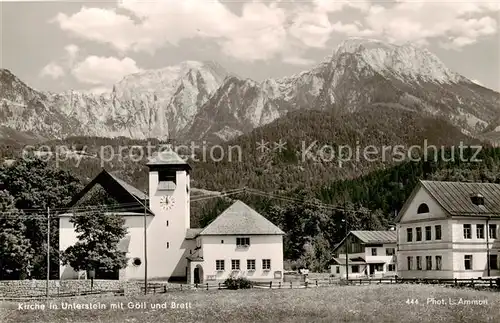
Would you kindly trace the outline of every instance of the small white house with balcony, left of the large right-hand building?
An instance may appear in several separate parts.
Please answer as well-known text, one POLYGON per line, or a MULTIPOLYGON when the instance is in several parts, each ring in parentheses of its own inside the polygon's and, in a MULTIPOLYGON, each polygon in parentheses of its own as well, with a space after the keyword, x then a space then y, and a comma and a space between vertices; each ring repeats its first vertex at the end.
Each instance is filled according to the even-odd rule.
POLYGON ((384 277, 396 274, 396 231, 351 231, 333 250, 335 277, 384 277))

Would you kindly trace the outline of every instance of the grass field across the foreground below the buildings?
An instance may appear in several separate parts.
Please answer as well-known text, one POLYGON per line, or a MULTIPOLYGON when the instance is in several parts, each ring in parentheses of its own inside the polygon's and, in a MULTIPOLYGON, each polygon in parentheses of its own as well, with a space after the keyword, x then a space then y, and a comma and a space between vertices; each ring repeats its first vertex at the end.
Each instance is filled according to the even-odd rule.
POLYGON ((4 302, 0 306, 0 322, 500 322, 500 292, 430 285, 186 291, 51 302, 58 305, 100 302, 107 309, 19 310, 17 303, 4 302), (486 300, 487 304, 427 304, 427 299, 432 297, 447 303, 450 298, 454 302, 462 298, 486 300), (418 300, 418 304, 407 304, 408 299, 418 300), (124 309, 110 309, 111 303, 120 302, 124 309), (128 302, 145 302, 147 308, 127 309, 128 302), (172 309, 172 302, 190 303, 191 308, 172 309), (164 304, 168 308, 151 309, 151 304, 164 304))

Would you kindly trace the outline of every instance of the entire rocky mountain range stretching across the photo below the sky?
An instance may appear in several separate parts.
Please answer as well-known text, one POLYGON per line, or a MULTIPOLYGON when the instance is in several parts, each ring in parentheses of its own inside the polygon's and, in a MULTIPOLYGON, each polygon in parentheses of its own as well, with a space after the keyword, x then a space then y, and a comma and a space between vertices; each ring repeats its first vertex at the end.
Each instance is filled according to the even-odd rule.
MULTIPOLYGON (((216 62, 128 75, 108 93, 37 91, 0 69, 0 136, 20 141, 125 136, 221 142, 295 111, 349 116, 381 105, 445 120, 481 139, 500 131, 500 94, 412 45, 349 38, 323 62, 256 82, 216 62)), ((384 113, 390 118, 391 115, 384 113)))

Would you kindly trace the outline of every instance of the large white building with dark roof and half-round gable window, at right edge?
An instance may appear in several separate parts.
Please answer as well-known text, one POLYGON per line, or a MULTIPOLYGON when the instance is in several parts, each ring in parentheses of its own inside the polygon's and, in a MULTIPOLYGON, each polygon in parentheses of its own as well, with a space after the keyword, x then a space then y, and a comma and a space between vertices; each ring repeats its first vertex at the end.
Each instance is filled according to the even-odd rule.
POLYGON ((500 276, 500 185, 420 181, 396 221, 398 276, 500 276))

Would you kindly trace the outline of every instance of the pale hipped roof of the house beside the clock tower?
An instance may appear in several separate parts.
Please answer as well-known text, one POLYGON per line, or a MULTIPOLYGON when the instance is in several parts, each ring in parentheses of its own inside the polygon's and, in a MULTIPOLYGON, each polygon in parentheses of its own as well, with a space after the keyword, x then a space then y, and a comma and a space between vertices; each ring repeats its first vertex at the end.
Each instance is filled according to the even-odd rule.
POLYGON ((254 234, 284 234, 284 232, 241 201, 233 203, 200 232, 200 235, 254 234))

